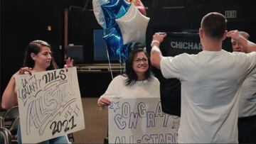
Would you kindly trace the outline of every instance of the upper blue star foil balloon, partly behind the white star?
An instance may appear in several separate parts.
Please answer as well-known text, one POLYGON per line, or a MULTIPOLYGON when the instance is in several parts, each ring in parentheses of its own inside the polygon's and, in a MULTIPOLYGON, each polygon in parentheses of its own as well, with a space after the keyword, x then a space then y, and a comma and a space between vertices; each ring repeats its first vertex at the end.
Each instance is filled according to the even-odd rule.
POLYGON ((109 0, 101 5, 102 11, 105 16, 106 28, 114 26, 115 19, 121 18, 128 11, 131 3, 125 0, 109 0))

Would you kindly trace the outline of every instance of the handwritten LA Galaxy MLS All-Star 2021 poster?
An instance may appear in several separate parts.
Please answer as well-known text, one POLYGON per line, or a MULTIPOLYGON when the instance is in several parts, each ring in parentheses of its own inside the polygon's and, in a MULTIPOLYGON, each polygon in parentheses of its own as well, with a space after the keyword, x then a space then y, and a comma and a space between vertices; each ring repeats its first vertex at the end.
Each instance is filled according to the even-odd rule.
POLYGON ((23 143, 85 128, 76 67, 22 74, 16 79, 23 143))

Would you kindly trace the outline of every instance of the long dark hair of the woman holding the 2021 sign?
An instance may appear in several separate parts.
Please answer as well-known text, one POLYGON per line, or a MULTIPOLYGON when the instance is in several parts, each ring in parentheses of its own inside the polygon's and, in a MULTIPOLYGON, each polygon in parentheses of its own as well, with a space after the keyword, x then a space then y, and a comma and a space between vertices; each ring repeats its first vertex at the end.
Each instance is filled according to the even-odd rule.
MULTIPOLYGON (((35 66, 35 61, 32 59, 31 53, 34 53, 35 55, 37 55, 39 52, 41 52, 42 46, 46 46, 50 48, 50 45, 43 40, 34 40, 28 44, 25 55, 24 55, 23 67, 33 68, 35 66)), ((50 51, 52 51, 51 48, 50 48, 50 51)), ((55 69, 58 69, 58 65, 56 64, 52 56, 52 59, 50 61, 50 66, 47 67, 46 70, 55 70, 55 69)))

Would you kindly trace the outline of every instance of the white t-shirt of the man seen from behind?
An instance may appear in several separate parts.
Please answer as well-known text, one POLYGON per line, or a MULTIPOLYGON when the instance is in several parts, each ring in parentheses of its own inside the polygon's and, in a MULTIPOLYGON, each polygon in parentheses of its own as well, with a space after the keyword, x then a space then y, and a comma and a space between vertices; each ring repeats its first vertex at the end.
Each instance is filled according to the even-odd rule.
POLYGON ((184 53, 163 57, 160 67, 181 81, 178 143, 238 143, 238 93, 256 71, 256 52, 184 53))

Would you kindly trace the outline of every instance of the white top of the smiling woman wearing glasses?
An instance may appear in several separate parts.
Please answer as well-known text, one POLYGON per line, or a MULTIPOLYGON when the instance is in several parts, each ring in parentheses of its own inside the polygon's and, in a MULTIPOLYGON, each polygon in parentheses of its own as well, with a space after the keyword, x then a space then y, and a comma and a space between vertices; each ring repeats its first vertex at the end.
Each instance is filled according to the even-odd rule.
POLYGON ((114 99, 160 97, 159 80, 156 77, 152 76, 151 79, 137 81, 128 86, 126 80, 127 77, 123 75, 114 77, 102 96, 114 99))

